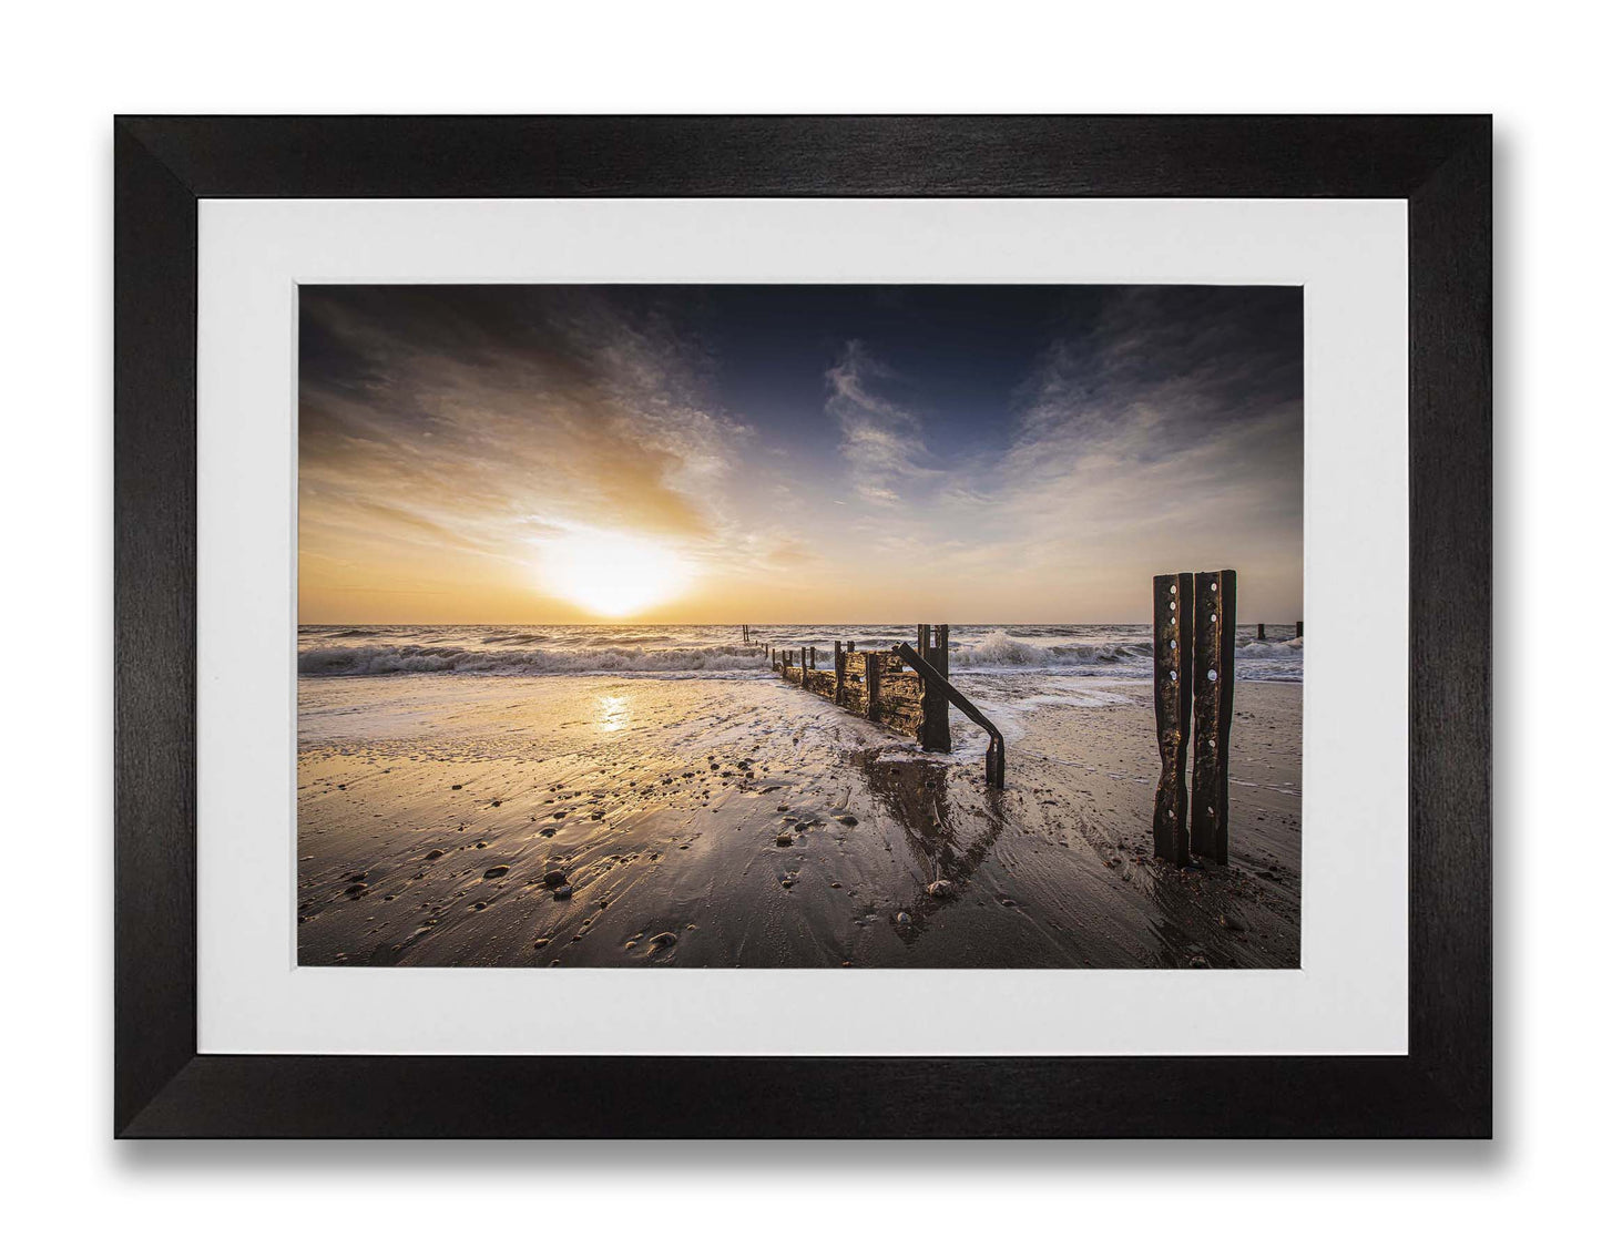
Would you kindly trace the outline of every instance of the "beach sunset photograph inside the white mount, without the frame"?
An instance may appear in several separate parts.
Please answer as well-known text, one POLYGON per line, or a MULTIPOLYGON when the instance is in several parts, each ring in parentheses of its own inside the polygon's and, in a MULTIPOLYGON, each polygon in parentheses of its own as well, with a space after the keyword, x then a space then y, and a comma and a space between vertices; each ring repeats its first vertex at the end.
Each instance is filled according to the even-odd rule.
POLYGON ((1301 288, 298 317, 301 966, 1299 966, 1301 288))

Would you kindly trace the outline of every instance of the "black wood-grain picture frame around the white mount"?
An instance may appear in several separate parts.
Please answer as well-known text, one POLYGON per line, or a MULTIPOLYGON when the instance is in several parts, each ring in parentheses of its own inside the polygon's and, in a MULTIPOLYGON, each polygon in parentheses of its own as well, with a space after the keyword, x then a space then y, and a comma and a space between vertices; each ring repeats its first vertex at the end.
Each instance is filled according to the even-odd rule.
POLYGON ((117 118, 115 1134, 1490 1135, 1490 151, 1459 115, 117 118), (586 195, 1407 200, 1405 1057, 197 1052, 199 202, 586 195))

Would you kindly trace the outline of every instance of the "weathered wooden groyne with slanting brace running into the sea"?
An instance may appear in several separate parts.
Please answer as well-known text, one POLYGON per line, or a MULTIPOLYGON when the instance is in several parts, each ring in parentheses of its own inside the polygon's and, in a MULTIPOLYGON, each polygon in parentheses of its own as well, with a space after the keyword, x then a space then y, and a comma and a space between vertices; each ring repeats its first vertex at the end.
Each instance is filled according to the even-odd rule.
POLYGON ((815 645, 774 649, 764 653, 785 681, 807 693, 897 733, 915 738, 926 751, 952 749, 952 706, 990 735, 985 749, 985 781, 1001 788, 1006 780, 1006 746, 996 727, 952 687, 952 629, 920 624, 916 645, 902 642, 889 650, 857 650, 855 642, 833 644, 819 665, 815 645))

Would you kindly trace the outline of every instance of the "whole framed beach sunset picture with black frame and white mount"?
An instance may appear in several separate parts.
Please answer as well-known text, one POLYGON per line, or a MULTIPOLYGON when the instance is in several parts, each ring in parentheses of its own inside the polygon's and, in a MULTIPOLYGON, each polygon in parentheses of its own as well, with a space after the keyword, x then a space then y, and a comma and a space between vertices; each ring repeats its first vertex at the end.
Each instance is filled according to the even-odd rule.
POLYGON ((125 117, 127 1137, 1490 1134, 1483 117, 125 117))

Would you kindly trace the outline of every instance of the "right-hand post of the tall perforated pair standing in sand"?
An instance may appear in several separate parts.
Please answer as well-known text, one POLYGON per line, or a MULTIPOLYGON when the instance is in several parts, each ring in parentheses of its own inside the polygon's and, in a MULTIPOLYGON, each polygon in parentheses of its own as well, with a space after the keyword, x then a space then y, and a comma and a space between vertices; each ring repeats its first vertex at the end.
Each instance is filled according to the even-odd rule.
POLYGON ((1229 727, 1235 719, 1235 570, 1195 575, 1195 764, 1190 850, 1229 861, 1229 727))

